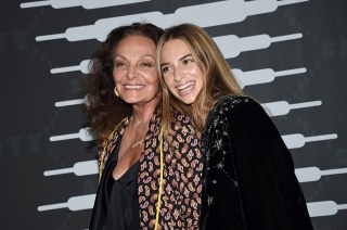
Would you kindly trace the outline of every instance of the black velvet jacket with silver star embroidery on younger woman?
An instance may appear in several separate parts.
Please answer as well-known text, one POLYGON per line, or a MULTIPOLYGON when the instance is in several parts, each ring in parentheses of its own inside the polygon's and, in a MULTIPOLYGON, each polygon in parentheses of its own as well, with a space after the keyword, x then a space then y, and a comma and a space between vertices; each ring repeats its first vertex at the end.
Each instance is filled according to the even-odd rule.
POLYGON ((210 111, 201 229, 311 230, 294 164, 254 100, 226 97, 210 111))

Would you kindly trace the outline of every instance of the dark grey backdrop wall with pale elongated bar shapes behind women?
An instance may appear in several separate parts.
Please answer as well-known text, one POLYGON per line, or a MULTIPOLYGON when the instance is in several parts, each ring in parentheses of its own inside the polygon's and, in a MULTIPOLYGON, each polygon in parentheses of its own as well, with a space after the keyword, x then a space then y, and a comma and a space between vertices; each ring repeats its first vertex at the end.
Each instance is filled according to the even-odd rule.
POLYGON ((1 3, 1 229, 88 229, 98 186, 82 82, 114 27, 183 22, 213 36, 292 152, 316 230, 347 229, 345 0, 1 3))

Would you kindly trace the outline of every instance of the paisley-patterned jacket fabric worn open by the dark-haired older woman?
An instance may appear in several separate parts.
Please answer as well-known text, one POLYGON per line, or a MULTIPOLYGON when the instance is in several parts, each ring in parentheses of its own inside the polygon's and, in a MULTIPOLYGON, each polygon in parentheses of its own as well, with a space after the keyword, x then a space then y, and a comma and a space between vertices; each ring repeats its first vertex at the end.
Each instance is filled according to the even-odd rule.
MULTIPOLYGON (((198 229, 203 156, 190 119, 175 113, 175 120, 176 124, 171 125, 170 130, 172 137, 170 144, 167 140, 163 143, 164 187, 158 228, 198 229)), ((126 118, 110 137, 107 146, 104 145, 106 151, 100 152, 101 169, 113 153, 115 143, 121 138, 128 123, 129 119, 126 118)), ((155 225, 160 174, 160 113, 154 114, 149 124, 144 151, 140 158, 138 194, 142 229, 153 229, 155 225)))

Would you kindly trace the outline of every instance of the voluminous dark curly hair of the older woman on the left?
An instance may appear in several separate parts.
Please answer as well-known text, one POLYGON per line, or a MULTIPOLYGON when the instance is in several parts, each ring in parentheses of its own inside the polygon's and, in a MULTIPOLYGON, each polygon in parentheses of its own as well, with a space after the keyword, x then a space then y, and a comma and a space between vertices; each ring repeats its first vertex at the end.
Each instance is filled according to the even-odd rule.
POLYGON ((98 135, 101 144, 115 126, 132 113, 131 106, 114 93, 114 53, 118 43, 129 37, 144 36, 157 44, 163 29, 150 23, 133 23, 113 29, 91 56, 87 77, 87 108, 91 130, 98 135))

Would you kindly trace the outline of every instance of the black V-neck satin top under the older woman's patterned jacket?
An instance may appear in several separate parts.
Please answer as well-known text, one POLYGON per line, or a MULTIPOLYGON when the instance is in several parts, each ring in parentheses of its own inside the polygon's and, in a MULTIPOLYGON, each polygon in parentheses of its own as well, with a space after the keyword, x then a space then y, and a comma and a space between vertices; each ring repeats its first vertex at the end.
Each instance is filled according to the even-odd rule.
POLYGON ((103 194, 98 215, 93 214, 91 228, 98 230, 139 230, 138 174, 140 161, 134 163, 117 180, 113 170, 117 165, 120 141, 116 144, 112 158, 104 169, 104 180, 99 186, 98 195, 103 194))

